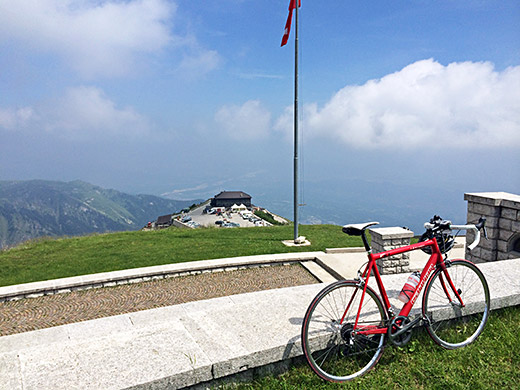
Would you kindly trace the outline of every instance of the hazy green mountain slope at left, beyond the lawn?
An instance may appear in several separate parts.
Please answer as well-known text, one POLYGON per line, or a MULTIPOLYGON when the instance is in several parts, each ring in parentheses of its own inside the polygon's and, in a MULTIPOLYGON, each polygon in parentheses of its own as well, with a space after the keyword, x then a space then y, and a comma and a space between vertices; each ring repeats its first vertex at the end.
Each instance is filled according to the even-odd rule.
POLYGON ((82 181, 0 181, 0 248, 42 236, 137 230, 195 202, 129 195, 82 181))

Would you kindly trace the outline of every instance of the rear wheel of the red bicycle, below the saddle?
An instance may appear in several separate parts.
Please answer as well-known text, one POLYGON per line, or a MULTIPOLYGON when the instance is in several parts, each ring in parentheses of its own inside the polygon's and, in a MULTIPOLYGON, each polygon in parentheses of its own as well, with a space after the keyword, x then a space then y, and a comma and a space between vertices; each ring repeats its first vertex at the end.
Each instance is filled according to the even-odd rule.
POLYGON ((357 331, 382 327, 386 319, 383 304, 372 289, 367 288, 363 295, 363 288, 355 281, 331 284, 314 298, 303 320, 302 348, 309 365, 318 376, 332 382, 365 374, 381 357, 385 335, 357 331))

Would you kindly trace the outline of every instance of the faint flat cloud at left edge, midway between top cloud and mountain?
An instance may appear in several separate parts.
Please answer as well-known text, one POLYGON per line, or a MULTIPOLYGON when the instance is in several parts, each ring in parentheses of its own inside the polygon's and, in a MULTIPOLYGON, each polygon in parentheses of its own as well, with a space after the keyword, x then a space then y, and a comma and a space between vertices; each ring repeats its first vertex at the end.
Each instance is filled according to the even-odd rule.
POLYGON ((119 108, 102 90, 80 86, 38 107, 0 108, 0 128, 41 131, 72 139, 136 136, 149 131, 145 117, 132 107, 119 108))

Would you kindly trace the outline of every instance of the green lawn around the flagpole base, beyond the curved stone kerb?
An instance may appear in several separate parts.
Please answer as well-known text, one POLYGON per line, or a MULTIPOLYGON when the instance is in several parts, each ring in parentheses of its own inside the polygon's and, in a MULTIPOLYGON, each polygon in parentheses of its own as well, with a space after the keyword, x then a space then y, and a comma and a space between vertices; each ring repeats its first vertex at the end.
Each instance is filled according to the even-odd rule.
POLYGON ((290 248, 292 226, 177 229, 42 239, 0 252, 0 286, 194 260, 362 246, 334 225, 301 225, 311 246, 290 248))

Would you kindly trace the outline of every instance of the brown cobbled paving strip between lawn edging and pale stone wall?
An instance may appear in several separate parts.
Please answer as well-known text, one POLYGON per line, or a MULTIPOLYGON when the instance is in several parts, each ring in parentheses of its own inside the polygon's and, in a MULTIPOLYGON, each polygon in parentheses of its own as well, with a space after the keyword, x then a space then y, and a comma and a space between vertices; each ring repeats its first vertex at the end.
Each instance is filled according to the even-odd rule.
POLYGON ((0 336, 246 292, 318 283, 301 265, 277 265, 97 288, 0 303, 0 336))

